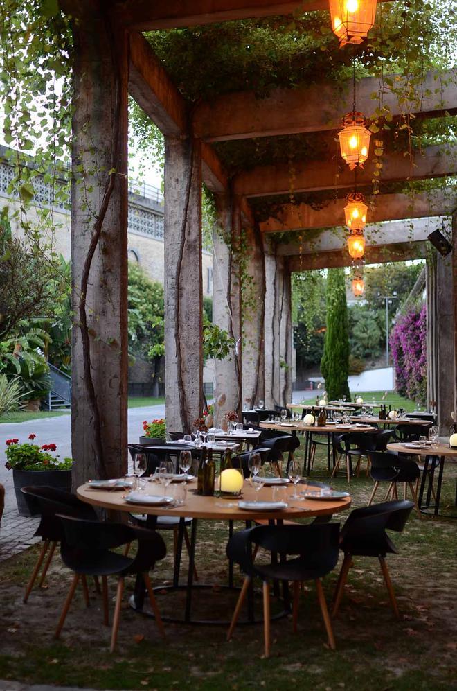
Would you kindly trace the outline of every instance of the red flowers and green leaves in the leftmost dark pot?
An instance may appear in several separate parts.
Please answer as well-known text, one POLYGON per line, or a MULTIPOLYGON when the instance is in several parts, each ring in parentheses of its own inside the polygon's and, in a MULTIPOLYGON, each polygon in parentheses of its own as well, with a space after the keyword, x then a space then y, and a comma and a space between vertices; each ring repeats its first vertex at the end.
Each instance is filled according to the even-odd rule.
MULTIPOLYGON (((28 435, 33 442, 37 435, 28 435)), ((59 455, 53 455, 57 446, 51 444, 30 444, 24 441, 19 444, 19 439, 6 440, 6 468, 20 471, 63 471, 71 469, 73 460, 64 458, 60 460, 59 455)))

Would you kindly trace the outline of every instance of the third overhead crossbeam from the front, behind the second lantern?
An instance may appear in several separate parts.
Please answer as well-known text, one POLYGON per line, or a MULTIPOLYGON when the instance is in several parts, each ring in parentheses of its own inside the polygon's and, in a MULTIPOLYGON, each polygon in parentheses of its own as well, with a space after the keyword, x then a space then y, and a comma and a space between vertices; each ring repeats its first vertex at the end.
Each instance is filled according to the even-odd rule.
MULTIPOLYGON (((402 153, 386 154, 380 182, 424 180, 457 173, 457 147, 429 146, 415 152, 413 162, 402 153)), ((341 166, 344 164, 341 162, 341 166)), ((341 168, 340 168, 341 169, 341 168)), ((357 174, 357 185, 370 185, 374 164, 366 164, 357 174)), ((294 161, 294 175, 287 164, 258 166, 245 170, 234 180, 236 194, 246 197, 269 197, 290 193, 312 192, 326 189, 352 189, 354 173, 345 166, 336 175, 334 161, 294 161)))

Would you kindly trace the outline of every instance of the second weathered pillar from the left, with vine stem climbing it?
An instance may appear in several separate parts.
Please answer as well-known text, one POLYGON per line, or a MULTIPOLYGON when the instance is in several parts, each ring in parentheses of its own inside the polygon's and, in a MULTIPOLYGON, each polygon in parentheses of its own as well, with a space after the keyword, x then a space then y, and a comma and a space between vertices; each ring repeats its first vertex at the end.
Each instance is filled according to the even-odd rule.
POLYGON ((190 432, 203 394, 201 147, 165 137, 165 415, 190 432))

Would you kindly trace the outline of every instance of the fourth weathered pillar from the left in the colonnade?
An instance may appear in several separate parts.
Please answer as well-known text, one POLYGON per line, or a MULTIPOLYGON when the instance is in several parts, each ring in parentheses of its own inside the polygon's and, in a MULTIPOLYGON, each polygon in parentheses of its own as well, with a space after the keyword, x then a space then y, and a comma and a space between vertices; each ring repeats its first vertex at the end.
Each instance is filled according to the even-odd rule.
POLYGON ((243 293, 243 404, 253 406, 265 400, 265 259, 258 223, 247 229, 246 239, 249 285, 243 293))

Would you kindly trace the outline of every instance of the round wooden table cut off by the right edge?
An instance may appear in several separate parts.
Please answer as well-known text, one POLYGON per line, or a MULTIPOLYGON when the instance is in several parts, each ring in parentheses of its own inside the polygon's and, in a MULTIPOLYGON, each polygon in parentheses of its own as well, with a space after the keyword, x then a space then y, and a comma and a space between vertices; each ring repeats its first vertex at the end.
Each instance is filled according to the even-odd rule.
MULTIPOLYGON (((418 505, 420 511, 422 511, 423 514, 428 514, 430 513, 430 509, 433 509, 433 514, 435 516, 439 515, 440 511, 440 497, 441 497, 441 486, 442 486, 442 475, 445 471, 445 461, 446 459, 451 460, 451 461, 457 461, 457 448, 449 448, 447 444, 436 444, 436 446, 429 446, 428 448, 408 448, 406 444, 400 442, 395 442, 392 444, 387 444, 387 450, 388 451, 396 451, 397 453, 404 453, 408 454, 410 456, 412 455, 418 455, 418 456, 424 456, 424 471, 422 472, 422 480, 420 482, 420 491, 419 491, 419 496, 418 496, 418 505), (431 462, 433 457, 438 457, 440 459, 440 465, 439 465, 439 470, 438 470, 438 484, 436 487, 436 500, 435 500, 435 505, 433 506, 431 504, 431 486, 433 484, 433 476, 435 473, 435 466, 431 462), (424 500, 424 490, 425 490, 425 482, 427 480, 427 475, 429 473, 429 464, 431 464, 430 468, 430 482, 429 482, 429 489, 427 491, 427 498, 425 500, 425 503, 422 503, 424 500)), ((456 506, 457 506, 457 487, 456 487, 456 506)), ((442 516, 446 515, 448 518, 457 518, 457 516, 449 516, 449 514, 440 514, 442 516)))

